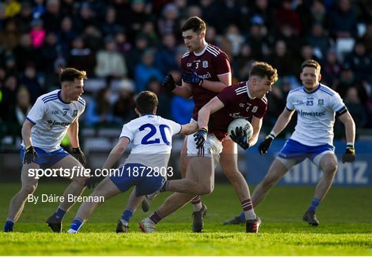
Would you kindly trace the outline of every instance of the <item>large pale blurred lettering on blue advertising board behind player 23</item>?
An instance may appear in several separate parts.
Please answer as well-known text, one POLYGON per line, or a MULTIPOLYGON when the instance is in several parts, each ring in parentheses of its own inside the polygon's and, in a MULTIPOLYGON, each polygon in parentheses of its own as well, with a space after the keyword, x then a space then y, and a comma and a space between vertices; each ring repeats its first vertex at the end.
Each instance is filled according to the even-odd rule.
MULTIPOLYGON (((368 174, 368 163, 366 161, 355 161, 353 163, 342 163, 338 161, 338 171, 333 183, 335 185, 370 185, 368 174)), ((323 172, 306 159, 299 163, 283 178, 285 184, 316 184, 323 176, 323 172)))

